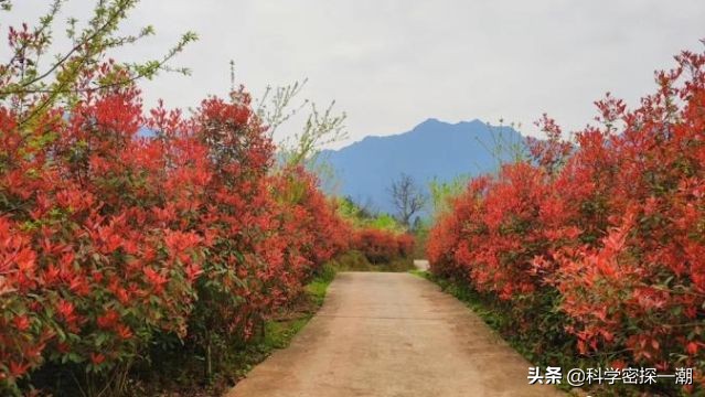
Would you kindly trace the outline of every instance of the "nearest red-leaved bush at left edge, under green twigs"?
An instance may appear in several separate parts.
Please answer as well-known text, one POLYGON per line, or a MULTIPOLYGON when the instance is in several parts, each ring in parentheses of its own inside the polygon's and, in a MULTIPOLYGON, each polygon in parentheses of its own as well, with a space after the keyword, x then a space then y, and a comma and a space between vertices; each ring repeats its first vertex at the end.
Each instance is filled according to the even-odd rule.
POLYGON ((18 114, 0 114, 2 384, 43 360, 102 372, 157 330, 183 335, 202 237, 160 212, 200 200, 164 185, 202 181, 181 179, 200 170, 172 172, 159 142, 135 137, 139 92, 86 90, 67 117, 55 109, 23 128, 18 114))

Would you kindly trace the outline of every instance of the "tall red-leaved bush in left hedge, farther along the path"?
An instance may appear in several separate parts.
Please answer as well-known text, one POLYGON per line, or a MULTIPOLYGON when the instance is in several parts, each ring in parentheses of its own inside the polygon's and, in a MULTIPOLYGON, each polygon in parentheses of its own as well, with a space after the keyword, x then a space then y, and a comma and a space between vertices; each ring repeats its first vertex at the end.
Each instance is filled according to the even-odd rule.
POLYGON ((249 96, 242 88, 235 95, 237 103, 204 100, 185 124, 210 175, 205 200, 191 207, 207 246, 188 335, 209 372, 222 351, 247 341, 269 313, 297 297, 348 238, 348 225, 312 175, 274 168, 275 147, 249 96))

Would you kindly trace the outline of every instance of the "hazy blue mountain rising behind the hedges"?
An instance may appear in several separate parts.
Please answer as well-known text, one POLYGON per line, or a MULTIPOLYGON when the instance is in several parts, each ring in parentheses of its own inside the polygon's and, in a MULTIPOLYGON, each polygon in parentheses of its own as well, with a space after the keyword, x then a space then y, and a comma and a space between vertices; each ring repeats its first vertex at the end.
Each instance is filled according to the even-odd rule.
MULTIPOLYGON (((408 132, 366 137, 340 150, 324 150, 321 159, 334 173, 334 184, 327 186, 331 193, 394 213, 388 189, 402 173, 428 193, 432 179, 451 181, 494 171, 498 144, 519 142, 522 136, 510 127, 490 127, 477 119, 448 124, 431 118, 408 132)), ((503 152, 501 157, 509 157, 503 152)))

